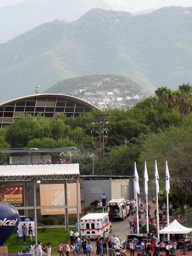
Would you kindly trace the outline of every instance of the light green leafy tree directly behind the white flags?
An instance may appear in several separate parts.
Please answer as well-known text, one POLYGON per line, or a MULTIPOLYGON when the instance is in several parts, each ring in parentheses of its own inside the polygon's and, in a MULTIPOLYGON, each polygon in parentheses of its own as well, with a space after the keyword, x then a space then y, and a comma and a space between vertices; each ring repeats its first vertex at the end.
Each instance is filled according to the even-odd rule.
POLYGON ((140 166, 147 161, 149 176, 154 178, 154 161, 157 160, 161 186, 165 184, 165 163, 168 160, 171 182, 177 183, 192 205, 192 125, 170 127, 145 140, 139 157, 140 166))

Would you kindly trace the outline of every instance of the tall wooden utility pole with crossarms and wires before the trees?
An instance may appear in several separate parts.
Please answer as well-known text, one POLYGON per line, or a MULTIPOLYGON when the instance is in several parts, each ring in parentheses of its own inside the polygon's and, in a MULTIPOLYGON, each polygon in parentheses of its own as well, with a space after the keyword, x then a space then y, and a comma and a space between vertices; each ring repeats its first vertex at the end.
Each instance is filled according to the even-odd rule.
POLYGON ((92 121, 92 124, 94 125, 95 123, 98 124, 98 129, 92 129, 91 130, 91 135, 92 135, 92 141, 93 141, 93 133, 97 133, 98 134, 98 139, 99 139, 99 148, 96 147, 94 141, 93 141, 93 145, 94 147, 99 151, 99 174, 100 176, 102 176, 102 153, 104 152, 106 143, 107 143, 107 134, 108 134, 108 128, 104 128, 104 123, 108 124, 107 120, 104 120, 104 116, 108 116, 108 115, 100 115, 100 116, 96 116, 99 117, 99 120, 96 121, 92 121))

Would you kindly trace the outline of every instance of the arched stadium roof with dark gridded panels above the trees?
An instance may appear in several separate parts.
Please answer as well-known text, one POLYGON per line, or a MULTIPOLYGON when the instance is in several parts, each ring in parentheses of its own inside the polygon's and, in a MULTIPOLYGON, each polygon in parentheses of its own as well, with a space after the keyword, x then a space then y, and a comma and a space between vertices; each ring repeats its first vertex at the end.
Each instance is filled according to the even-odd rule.
POLYGON ((62 94, 41 93, 12 99, 0 104, 0 128, 11 124, 15 118, 24 113, 30 113, 33 117, 38 113, 50 119, 55 119, 61 113, 67 117, 97 109, 92 104, 73 96, 62 94))

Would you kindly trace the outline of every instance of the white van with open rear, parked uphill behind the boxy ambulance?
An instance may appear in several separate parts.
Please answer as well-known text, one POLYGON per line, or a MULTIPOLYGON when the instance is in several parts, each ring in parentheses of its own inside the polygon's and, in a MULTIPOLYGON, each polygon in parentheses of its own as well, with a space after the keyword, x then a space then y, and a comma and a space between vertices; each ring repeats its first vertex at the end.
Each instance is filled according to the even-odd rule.
POLYGON ((124 198, 114 198, 108 202, 107 212, 112 209, 113 218, 124 218, 129 214, 129 201, 124 198))

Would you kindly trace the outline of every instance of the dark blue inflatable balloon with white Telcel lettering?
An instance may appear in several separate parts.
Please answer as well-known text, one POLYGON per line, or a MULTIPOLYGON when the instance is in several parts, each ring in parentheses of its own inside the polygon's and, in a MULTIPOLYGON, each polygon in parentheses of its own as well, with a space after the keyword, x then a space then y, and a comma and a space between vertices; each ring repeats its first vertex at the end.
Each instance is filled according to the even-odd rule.
POLYGON ((19 212, 15 207, 0 203, 0 246, 15 232, 19 220, 19 212))

